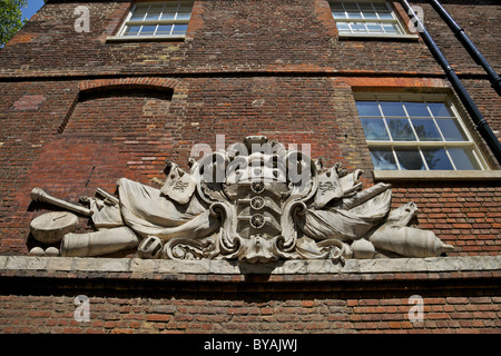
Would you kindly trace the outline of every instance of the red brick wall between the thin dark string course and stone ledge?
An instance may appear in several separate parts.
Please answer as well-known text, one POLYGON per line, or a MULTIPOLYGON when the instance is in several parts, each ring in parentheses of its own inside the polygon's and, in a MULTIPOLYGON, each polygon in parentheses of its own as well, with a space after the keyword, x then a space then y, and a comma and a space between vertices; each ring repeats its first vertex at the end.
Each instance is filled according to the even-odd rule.
MULTIPOLYGON (((377 82, 386 90, 405 85, 422 90, 440 83, 404 78, 377 82)), ((77 202, 96 188, 114 192, 120 177, 155 186, 154 177, 165 177, 165 159, 187 169, 193 146, 208 144, 216 149, 216 135, 225 136, 226 147, 246 135, 298 147, 307 144, 312 157, 324 157, 326 167, 341 161, 347 169, 363 169, 365 185, 372 184, 361 123, 353 119, 353 90, 374 88, 374 80, 199 78, 157 90, 130 89, 127 82, 110 88, 110 83, 102 81, 100 91, 78 91, 78 86, 90 86, 85 81, 17 85, 13 88, 22 92, 45 92, 28 96, 45 100, 28 103, 38 107, 26 110, 16 102, 26 102, 27 96, 3 85, 11 98, 4 103, 6 121, 11 123, 2 128, 7 138, 2 154, 10 162, 1 185, 3 253, 27 253, 30 219, 50 209, 31 202, 32 188, 77 202)), ((497 254, 500 194, 499 184, 492 181, 394 182, 394 207, 416 202, 418 222, 456 246, 451 255, 497 254)), ((85 219, 81 224, 86 228, 85 219)))

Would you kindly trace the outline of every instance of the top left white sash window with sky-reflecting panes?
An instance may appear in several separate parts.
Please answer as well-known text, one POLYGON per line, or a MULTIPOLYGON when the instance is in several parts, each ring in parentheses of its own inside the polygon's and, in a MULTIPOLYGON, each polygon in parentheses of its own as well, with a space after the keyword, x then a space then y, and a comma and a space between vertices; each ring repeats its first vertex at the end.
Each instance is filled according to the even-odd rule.
POLYGON ((184 39, 191 9, 193 1, 137 1, 115 39, 184 39))

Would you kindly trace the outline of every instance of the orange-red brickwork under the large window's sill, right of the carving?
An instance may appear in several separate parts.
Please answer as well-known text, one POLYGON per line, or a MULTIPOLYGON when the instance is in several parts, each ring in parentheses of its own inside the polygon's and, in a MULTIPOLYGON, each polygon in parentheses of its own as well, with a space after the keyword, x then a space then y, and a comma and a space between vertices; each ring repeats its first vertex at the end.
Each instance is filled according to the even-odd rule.
POLYGON ((401 184, 394 185, 393 197, 395 202, 411 200, 421 207, 419 226, 456 246, 451 256, 499 255, 499 184, 401 184))

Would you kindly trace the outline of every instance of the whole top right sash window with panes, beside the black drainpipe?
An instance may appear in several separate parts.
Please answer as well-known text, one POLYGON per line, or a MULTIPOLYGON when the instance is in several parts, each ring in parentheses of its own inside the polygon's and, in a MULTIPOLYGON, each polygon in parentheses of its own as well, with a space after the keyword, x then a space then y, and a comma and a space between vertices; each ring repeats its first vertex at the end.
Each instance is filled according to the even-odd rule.
POLYGON ((409 34, 386 0, 330 1, 340 37, 418 38, 409 34))

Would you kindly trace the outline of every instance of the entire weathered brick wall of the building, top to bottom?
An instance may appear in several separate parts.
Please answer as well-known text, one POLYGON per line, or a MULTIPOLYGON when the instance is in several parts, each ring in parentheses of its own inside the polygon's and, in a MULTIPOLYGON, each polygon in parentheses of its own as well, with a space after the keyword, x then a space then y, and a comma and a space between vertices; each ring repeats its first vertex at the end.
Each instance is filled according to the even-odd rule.
MULTIPOLYGON (((426 1, 410 2, 423 8, 426 28, 501 138, 501 99, 483 70, 426 1)), ((498 1, 441 3, 500 72, 498 1)), ((248 135, 298 148, 307 144, 312 157, 323 157, 327 167, 342 162, 364 170, 367 187, 376 181, 355 107, 357 92, 448 92, 461 107, 421 38, 340 38, 326 0, 196 0, 185 40, 151 42, 107 40, 130 1, 86 2, 90 32, 73 29, 77 4, 46 1, 0 49, 0 255, 27 255, 35 245, 29 222, 51 207, 31 201, 33 187, 72 202, 94 196, 98 187, 114 194, 121 177, 158 187, 166 159, 188 169, 196 144, 226 148, 248 135)), ((406 23, 400 2, 392 6, 406 23)), ((500 169, 473 121, 468 116, 464 121, 491 169, 500 169)), ((419 215, 413 222, 453 245, 449 256, 500 254, 500 181, 390 182, 392 205, 414 201, 419 215)), ((89 224, 81 217, 79 231, 89 224)), ((141 281, 131 290, 125 290, 127 283, 121 289, 88 283, 106 277, 92 271, 71 273, 70 280, 58 273, 42 276, 62 278, 53 293, 19 287, 33 277, 40 276, 3 275, 2 283, 14 283, 0 293, 1 333, 501 329, 499 276, 481 273, 453 278, 380 274, 366 277, 377 280, 375 288, 346 278, 346 290, 325 276, 282 276, 261 285, 243 276, 194 275, 179 290, 164 294, 146 288, 150 280, 144 291, 141 281), (444 288, 436 288, 442 279, 444 288), (409 320, 409 291, 424 298, 423 322, 409 320), (91 298, 87 324, 73 319, 79 294, 91 298)))

